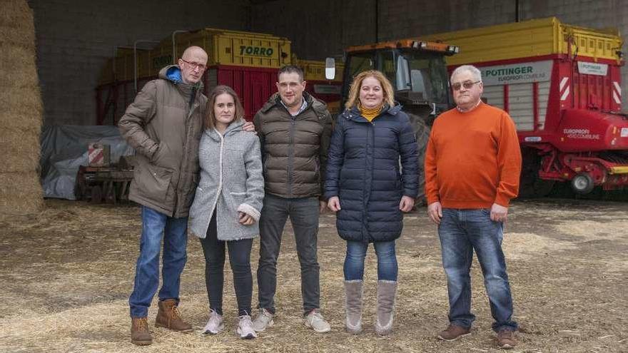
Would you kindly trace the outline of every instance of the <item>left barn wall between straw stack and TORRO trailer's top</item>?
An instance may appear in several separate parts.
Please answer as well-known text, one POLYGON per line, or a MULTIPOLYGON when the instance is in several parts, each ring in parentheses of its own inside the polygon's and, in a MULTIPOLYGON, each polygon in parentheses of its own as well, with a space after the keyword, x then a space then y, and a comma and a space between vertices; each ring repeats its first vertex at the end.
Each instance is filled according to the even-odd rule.
POLYGON ((116 46, 176 29, 243 29, 248 1, 29 0, 46 124, 96 123, 95 88, 116 46), (131 5, 132 4, 132 5, 131 5))

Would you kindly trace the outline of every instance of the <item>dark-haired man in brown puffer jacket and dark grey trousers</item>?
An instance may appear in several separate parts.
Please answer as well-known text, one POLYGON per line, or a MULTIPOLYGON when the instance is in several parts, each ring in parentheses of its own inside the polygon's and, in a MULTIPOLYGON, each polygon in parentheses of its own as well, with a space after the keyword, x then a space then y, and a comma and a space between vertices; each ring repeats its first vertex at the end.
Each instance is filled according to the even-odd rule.
POLYGON ((260 136, 265 197, 260 217, 258 292, 260 314, 255 331, 273 325, 277 257, 286 220, 292 222, 301 266, 305 326, 328 332, 320 310, 316 256, 318 215, 326 208, 321 192, 332 123, 325 103, 304 93, 303 71, 285 66, 278 73, 278 93, 255 115, 260 136))

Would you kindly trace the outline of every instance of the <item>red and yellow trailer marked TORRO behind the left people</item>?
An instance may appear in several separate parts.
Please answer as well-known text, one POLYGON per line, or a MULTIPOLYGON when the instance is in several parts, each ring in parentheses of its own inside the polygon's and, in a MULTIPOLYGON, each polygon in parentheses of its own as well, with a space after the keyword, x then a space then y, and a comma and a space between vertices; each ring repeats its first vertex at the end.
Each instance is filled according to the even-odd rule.
POLYGON ((203 76, 204 93, 217 85, 231 86, 240 97, 245 118, 255 113, 277 91, 277 71, 289 64, 290 41, 270 34, 201 29, 175 31, 151 50, 123 49, 103 67, 96 88, 96 123, 116 124, 146 82, 188 46, 201 46, 208 53, 203 76))

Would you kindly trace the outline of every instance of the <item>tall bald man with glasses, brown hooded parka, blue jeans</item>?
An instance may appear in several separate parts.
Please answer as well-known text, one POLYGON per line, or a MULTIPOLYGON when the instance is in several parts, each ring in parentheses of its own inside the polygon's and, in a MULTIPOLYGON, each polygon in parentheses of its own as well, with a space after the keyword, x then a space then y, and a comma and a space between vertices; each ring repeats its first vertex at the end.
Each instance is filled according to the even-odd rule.
POLYGON ((186 265, 188 210, 198 183, 198 143, 207 98, 201 77, 207 53, 191 46, 178 65, 166 66, 146 83, 118 126, 136 150, 129 199, 142 205, 140 255, 131 306, 131 342, 152 343, 148 307, 159 285, 163 237, 163 284, 155 325, 190 332, 178 313, 181 272, 186 265))

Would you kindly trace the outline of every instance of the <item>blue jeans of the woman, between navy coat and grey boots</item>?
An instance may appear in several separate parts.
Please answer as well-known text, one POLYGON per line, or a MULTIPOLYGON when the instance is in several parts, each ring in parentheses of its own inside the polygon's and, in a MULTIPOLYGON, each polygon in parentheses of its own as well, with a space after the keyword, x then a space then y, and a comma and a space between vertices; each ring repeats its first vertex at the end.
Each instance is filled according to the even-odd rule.
MULTIPOLYGON (((378 255, 378 280, 397 280, 397 255, 395 254, 395 240, 390 242, 373 242, 375 255, 378 255)), ((345 280, 362 280, 364 277, 364 257, 368 244, 358 241, 347 241, 347 255, 345 256, 345 280)))

